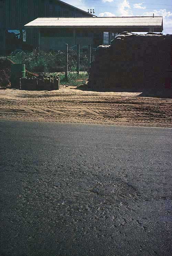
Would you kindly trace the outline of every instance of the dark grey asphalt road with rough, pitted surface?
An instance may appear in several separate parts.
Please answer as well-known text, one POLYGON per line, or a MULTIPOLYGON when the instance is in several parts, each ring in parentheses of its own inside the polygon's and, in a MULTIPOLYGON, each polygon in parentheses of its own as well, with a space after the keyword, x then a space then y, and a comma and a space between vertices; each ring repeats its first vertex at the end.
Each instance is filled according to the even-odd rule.
POLYGON ((1 256, 171 256, 172 129, 0 121, 1 256))

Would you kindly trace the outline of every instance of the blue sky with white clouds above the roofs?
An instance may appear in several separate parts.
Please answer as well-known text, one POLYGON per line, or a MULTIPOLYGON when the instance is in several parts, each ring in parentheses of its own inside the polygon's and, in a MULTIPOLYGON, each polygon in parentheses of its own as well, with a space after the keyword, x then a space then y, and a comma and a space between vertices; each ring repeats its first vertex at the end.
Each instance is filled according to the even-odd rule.
POLYGON ((114 16, 163 16, 163 33, 172 34, 171 0, 62 0, 79 9, 94 9, 98 17, 114 16))

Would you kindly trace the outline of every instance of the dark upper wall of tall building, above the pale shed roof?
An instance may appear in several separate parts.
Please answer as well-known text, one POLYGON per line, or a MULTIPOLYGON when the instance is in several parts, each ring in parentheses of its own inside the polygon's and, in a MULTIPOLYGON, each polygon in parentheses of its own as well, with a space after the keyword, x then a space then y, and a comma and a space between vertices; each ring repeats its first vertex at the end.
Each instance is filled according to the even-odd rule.
POLYGON ((37 17, 91 17, 57 0, 1 0, 0 26, 19 29, 37 17))

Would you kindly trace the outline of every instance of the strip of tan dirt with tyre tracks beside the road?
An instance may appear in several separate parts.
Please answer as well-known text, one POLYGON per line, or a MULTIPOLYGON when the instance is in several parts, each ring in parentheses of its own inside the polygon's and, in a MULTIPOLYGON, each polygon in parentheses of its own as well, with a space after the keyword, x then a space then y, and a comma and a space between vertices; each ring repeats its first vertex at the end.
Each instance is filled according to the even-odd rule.
POLYGON ((172 99, 138 92, 0 90, 0 119, 172 127, 172 99))

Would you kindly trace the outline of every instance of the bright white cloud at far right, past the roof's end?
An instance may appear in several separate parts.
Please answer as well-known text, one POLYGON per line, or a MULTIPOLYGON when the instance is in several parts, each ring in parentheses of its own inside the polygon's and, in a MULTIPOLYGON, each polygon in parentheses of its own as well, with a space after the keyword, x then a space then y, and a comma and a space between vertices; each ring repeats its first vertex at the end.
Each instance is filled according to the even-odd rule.
POLYGON ((159 11, 153 10, 152 12, 144 12, 143 16, 162 16, 163 17, 163 33, 172 34, 172 12, 161 9, 159 11))

